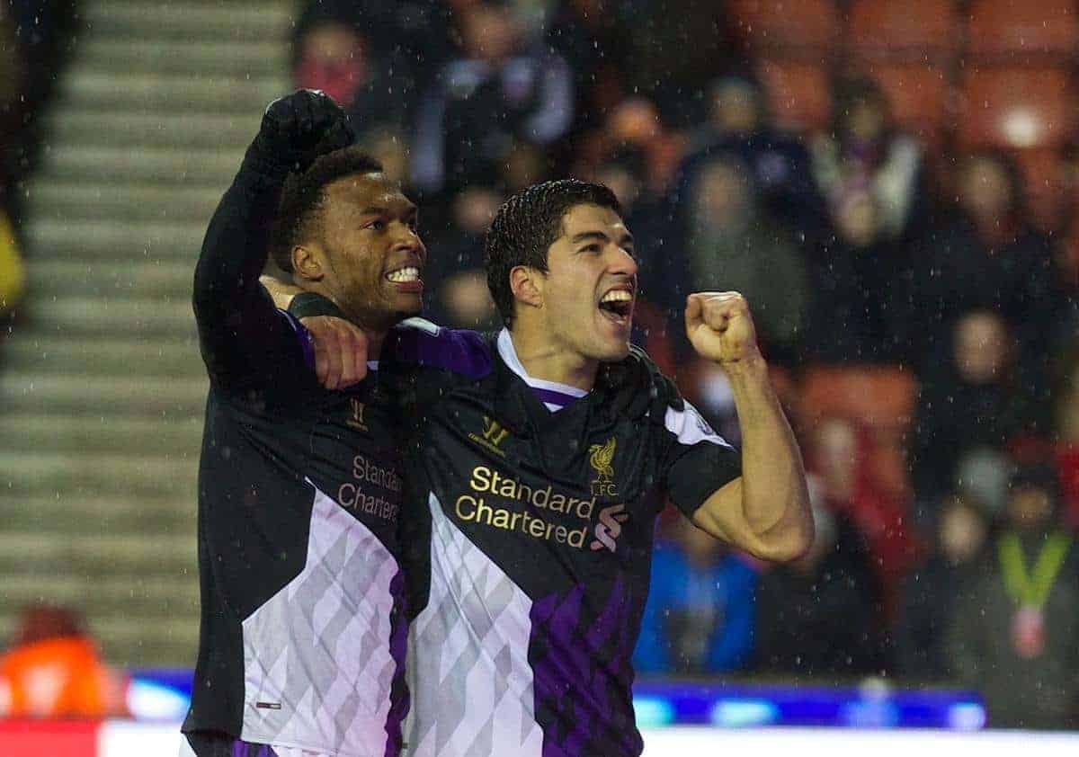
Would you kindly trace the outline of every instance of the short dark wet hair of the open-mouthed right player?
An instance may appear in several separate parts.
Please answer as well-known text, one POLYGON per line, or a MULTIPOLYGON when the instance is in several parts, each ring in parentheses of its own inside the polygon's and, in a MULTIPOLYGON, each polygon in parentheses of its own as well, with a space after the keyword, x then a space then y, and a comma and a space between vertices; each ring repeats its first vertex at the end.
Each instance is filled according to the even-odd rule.
POLYGON ((532 184, 498 208, 483 245, 487 286, 502 321, 514 324, 509 272, 518 265, 547 270, 547 250, 562 236, 562 217, 577 205, 599 205, 622 216, 614 192, 603 184, 558 179, 532 184))

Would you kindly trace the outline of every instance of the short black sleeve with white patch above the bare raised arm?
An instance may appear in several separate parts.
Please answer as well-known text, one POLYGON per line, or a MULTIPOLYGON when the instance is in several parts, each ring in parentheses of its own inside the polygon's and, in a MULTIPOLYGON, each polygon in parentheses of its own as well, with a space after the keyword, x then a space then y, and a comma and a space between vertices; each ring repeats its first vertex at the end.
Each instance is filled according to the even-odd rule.
POLYGON ((688 402, 682 410, 667 409, 664 432, 670 443, 664 466, 667 493, 686 517, 741 476, 741 455, 688 402))

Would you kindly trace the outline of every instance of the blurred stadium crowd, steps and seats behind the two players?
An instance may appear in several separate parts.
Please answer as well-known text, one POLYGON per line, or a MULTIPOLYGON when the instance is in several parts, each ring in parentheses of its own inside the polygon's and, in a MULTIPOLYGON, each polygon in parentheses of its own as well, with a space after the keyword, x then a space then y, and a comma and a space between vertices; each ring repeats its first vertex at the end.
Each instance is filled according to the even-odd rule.
POLYGON ((737 442, 681 306, 749 299, 817 543, 663 519, 642 725, 1076 729, 1077 53, 1065 0, 0 0, 0 713, 182 715, 193 265, 308 86, 420 204, 433 320, 496 326, 509 193, 606 183, 636 341, 737 442))

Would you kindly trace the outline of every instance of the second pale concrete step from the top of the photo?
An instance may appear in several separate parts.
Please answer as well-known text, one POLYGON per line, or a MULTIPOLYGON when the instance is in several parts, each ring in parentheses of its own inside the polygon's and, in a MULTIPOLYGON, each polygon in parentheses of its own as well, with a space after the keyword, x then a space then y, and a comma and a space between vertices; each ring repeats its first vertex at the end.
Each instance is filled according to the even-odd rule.
POLYGON ((257 41, 204 39, 97 38, 79 44, 72 68, 129 73, 205 73, 281 75, 288 67, 284 37, 257 41))

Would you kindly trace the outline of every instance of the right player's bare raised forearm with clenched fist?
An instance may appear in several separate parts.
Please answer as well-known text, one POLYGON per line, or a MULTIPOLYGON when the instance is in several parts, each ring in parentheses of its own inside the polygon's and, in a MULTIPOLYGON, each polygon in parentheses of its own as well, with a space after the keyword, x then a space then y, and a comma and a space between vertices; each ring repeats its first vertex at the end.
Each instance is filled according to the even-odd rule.
POLYGON ((802 453, 768 380, 746 299, 737 292, 691 294, 686 334, 730 381, 742 433, 741 476, 714 491, 693 522, 756 558, 795 560, 814 538, 802 453))

